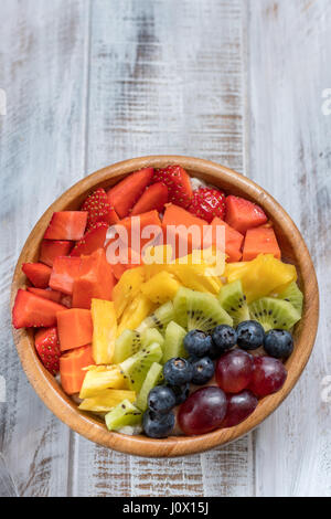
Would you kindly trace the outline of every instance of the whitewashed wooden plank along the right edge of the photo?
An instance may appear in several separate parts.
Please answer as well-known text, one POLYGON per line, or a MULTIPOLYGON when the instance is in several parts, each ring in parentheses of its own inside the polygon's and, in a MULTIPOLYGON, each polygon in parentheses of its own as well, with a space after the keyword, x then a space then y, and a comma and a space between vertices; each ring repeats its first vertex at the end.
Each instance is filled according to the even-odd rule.
POLYGON ((249 2, 250 176, 285 206, 312 254, 321 287, 319 336, 308 368, 256 432, 258 496, 330 496, 330 116, 328 0, 249 2))

